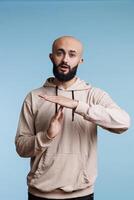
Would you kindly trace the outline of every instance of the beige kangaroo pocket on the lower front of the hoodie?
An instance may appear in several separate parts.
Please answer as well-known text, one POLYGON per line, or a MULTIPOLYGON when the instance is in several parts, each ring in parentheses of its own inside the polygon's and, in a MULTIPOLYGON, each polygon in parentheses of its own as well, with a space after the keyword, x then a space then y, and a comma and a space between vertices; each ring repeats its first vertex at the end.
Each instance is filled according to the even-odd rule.
POLYGON ((36 172, 29 174, 28 184, 42 192, 71 192, 92 185, 79 154, 47 154, 40 162, 36 172))

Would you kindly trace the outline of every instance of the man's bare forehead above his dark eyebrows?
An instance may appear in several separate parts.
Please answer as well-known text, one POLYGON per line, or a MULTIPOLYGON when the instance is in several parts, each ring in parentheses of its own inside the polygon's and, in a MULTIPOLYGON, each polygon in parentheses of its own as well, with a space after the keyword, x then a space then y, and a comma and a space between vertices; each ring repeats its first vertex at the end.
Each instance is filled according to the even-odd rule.
POLYGON ((75 51, 76 53, 82 52, 82 44, 73 38, 61 38, 53 43, 53 52, 59 49, 65 51, 75 51))

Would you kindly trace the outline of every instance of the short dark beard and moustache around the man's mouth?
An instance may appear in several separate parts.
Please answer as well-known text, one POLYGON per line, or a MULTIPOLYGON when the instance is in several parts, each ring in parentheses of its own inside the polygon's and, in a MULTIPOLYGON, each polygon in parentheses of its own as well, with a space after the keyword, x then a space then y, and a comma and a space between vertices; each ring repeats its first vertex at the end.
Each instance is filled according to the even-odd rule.
POLYGON ((64 73, 61 73, 58 71, 58 67, 61 65, 62 65, 62 63, 59 64, 58 66, 55 63, 53 63, 53 74, 54 74, 55 78, 57 78, 61 82, 66 82, 66 81, 72 80, 77 73, 78 65, 76 65, 72 69, 70 68, 70 66, 68 66, 69 72, 67 74, 64 74, 64 73))

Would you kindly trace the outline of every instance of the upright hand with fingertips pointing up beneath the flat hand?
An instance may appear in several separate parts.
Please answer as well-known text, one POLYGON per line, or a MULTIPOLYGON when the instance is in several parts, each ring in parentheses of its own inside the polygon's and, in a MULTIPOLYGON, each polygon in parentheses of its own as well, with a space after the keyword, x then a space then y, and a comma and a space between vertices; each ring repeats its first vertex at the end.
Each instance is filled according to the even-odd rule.
POLYGON ((56 137, 60 133, 62 122, 63 122, 63 107, 60 106, 58 112, 52 117, 50 121, 50 125, 47 131, 47 135, 50 139, 56 137))

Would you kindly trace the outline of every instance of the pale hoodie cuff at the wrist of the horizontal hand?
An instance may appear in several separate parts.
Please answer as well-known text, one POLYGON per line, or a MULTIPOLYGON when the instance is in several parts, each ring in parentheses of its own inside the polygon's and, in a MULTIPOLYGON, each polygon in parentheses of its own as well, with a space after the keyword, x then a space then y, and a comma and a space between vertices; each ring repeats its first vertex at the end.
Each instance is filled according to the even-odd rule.
POLYGON ((85 115, 87 115, 88 110, 89 110, 89 105, 82 101, 79 101, 78 106, 75 109, 75 113, 78 113, 84 117, 85 115))

